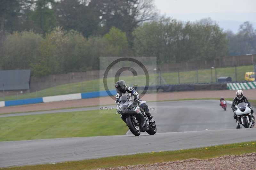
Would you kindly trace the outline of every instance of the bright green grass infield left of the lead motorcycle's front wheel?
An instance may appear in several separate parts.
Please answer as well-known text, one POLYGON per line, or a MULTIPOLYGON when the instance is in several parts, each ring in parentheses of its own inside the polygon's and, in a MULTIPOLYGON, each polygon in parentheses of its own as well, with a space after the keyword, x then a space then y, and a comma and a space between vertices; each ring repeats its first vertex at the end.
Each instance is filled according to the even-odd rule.
POLYGON ((0 141, 124 135, 128 130, 113 111, 95 110, 5 117, 0 125, 0 141))

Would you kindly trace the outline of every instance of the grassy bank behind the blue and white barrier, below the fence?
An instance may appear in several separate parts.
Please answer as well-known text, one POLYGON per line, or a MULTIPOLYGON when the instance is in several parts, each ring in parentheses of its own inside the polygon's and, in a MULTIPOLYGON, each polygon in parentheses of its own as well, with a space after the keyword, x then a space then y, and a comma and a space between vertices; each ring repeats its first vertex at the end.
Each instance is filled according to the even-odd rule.
MULTIPOLYGON (((252 71, 253 66, 240 66, 236 68, 237 70, 237 81, 244 81, 245 72, 252 71)), ((178 73, 162 73, 167 84, 178 84, 178 73)), ((215 70, 212 72, 213 82, 215 82, 215 70)), ((217 69, 217 78, 221 76, 230 76, 232 80, 235 81, 235 67, 226 67, 217 69)), ((127 86, 145 86, 146 80, 145 75, 138 76, 120 76, 120 79, 125 80, 127 86)), ((155 75, 149 74, 149 85, 155 85, 155 75)), ((180 83, 196 83, 196 71, 180 72, 180 83)), ((198 82, 211 82, 211 69, 198 70, 198 82)), ((114 89, 115 80, 114 77, 108 78, 107 80, 108 88, 114 89)), ((159 82, 157 82, 159 83, 159 82)), ((84 93, 104 90, 103 79, 96 79, 91 81, 83 81, 78 83, 70 83, 59 85, 56 87, 44 89, 38 92, 33 92, 29 94, 14 95, 7 97, 0 97, 0 101, 7 100, 17 100, 25 98, 36 98, 36 97, 46 97, 54 95, 64 95, 72 93, 84 93)))

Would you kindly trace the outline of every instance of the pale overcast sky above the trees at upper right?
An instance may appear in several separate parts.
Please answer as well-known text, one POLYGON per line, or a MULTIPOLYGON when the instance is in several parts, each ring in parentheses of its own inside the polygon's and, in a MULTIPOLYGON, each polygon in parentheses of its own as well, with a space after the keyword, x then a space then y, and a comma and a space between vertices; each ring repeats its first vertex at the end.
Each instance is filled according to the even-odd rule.
POLYGON ((256 0, 155 0, 161 14, 178 20, 211 17, 224 29, 236 32, 244 21, 256 26, 256 0))

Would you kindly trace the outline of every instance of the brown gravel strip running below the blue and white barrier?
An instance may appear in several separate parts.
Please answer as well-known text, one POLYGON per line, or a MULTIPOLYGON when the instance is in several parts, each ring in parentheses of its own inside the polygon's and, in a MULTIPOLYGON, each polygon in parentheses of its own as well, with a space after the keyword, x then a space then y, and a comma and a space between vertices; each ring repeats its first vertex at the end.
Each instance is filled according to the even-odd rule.
MULTIPOLYGON (((256 89, 244 90, 244 96, 248 99, 256 100, 256 89)), ((182 92, 159 92, 157 94, 145 94, 142 100, 147 101, 160 101, 160 100, 179 100, 179 99, 199 99, 199 98, 233 98, 236 96, 234 90, 211 90, 211 91, 182 91, 182 92)), ((53 109, 63 109, 71 107, 87 107, 95 105, 115 104, 109 97, 89 98, 81 100, 69 100, 51 103, 28 104, 1 107, 0 113, 13 113, 13 112, 30 112, 30 111, 44 111, 53 109)))

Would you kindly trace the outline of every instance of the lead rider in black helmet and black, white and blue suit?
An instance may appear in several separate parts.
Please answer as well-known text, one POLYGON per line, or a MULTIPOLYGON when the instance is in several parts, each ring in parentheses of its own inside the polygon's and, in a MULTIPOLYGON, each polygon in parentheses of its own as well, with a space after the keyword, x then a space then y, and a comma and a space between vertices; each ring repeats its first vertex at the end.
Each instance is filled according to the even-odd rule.
POLYGON ((139 106, 140 108, 143 109, 143 111, 145 112, 145 114, 148 116, 148 119, 151 120, 153 117, 151 116, 151 114, 149 113, 149 109, 148 109, 148 105, 143 103, 140 100, 140 95, 136 92, 135 89, 133 89, 132 87, 127 87, 125 84, 125 81, 120 80, 116 82, 116 103, 119 102, 119 99, 121 96, 123 95, 127 95, 128 93, 131 93, 132 96, 134 97, 134 102, 140 102, 139 106))

